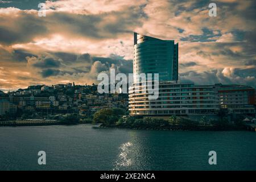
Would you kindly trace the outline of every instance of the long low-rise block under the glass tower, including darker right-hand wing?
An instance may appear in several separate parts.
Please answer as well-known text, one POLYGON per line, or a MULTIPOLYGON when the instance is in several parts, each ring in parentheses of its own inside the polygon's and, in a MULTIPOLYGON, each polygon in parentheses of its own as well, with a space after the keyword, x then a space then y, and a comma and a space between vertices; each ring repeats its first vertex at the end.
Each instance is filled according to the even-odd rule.
POLYGON ((131 115, 216 115, 220 109, 255 115, 255 89, 250 86, 161 82, 156 100, 149 100, 145 90, 140 83, 129 88, 131 115))

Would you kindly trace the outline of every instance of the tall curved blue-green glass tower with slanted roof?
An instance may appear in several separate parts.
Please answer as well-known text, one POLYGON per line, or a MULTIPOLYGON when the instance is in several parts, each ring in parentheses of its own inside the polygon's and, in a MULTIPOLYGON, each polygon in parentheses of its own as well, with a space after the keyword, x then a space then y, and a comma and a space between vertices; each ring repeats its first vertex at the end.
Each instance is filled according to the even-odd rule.
POLYGON ((158 73, 159 81, 178 79, 178 43, 161 40, 134 32, 134 82, 141 73, 158 73))

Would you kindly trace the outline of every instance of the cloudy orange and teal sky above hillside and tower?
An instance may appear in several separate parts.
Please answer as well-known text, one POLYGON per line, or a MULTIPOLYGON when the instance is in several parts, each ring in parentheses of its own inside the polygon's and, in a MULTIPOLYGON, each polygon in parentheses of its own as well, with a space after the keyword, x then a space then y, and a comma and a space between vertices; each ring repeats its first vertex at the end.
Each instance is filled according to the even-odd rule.
POLYGON ((255 0, 0 1, 0 90, 133 73, 133 32, 179 42, 180 82, 255 88, 255 10, 255 0))

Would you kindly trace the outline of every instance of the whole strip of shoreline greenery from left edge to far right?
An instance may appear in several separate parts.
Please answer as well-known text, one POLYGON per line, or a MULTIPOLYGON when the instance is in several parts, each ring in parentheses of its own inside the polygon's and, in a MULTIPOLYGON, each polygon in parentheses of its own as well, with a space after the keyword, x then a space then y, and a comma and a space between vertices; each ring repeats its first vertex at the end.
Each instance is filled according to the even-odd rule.
POLYGON ((136 130, 191 130, 191 131, 230 131, 249 130, 243 117, 236 117, 229 122, 225 112, 218 113, 218 120, 207 120, 202 116, 199 121, 188 117, 172 115, 168 120, 162 118, 137 118, 126 115, 124 109, 101 109, 94 113, 93 118, 84 118, 78 114, 56 115, 54 120, 25 119, 0 121, 0 126, 48 126, 48 125, 77 125, 82 123, 98 124, 93 128, 119 128, 136 130), (126 115, 124 117, 124 115, 126 115))

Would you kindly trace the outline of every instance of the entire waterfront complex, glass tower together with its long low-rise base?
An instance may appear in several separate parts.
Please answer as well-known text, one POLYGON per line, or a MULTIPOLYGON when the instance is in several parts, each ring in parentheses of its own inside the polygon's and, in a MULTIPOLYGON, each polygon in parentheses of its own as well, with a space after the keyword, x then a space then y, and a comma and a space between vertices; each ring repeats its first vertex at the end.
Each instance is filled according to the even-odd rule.
POLYGON ((177 83, 178 44, 174 40, 134 33, 133 72, 134 84, 129 88, 130 115, 216 115, 218 110, 227 109, 229 113, 255 116, 255 89, 250 86, 177 83), (149 99, 150 88, 136 80, 141 73, 159 73, 155 100, 149 99))

